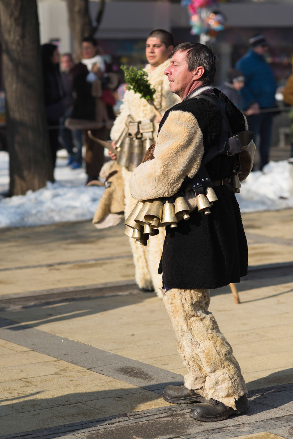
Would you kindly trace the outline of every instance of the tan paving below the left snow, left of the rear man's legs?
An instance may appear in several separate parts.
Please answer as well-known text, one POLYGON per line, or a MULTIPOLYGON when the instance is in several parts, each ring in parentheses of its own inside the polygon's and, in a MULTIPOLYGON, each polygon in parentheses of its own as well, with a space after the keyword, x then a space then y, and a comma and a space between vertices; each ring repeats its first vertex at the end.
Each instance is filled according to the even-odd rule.
POLYGON ((124 228, 121 223, 96 230, 91 221, 80 221, 1 230, 6 257, 0 264, 0 295, 132 280, 124 228))

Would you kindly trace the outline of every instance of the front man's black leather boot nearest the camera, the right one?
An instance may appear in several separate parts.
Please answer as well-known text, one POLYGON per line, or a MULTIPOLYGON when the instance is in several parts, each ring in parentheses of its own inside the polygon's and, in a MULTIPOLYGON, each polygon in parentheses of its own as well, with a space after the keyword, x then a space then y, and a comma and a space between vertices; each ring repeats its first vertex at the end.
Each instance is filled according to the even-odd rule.
POLYGON ((249 403, 246 395, 240 396, 236 401, 236 410, 215 399, 207 399, 204 403, 195 404, 190 410, 189 416, 197 421, 215 422, 223 421, 232 414, 240 414, 249 409, 249 403))

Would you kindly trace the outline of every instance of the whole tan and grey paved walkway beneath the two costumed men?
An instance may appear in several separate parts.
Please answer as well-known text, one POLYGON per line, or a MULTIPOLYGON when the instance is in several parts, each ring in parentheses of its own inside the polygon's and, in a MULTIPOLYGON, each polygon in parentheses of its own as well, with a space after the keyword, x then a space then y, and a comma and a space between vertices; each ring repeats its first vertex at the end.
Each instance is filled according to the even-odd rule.
POLYGON ((211 424, 161 398, 186 370, 161 299, 133 282, 120 225, 6 230, 1 439, 293 438, 292 213, 243 215, 250 271, 237 286, 242 303, 229 287, 211 291, 250 392, 247 414, 211 424))

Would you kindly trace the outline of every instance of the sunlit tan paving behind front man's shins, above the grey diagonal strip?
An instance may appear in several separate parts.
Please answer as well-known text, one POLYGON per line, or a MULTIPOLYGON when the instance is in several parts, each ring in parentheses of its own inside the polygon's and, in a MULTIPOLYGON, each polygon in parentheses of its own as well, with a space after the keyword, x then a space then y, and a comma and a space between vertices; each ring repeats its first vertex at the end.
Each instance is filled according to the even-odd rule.
MULTIPOLYGON (((259 389, 291 382, 293 275, 244 281, 238 288, 241 304, 235 305, 229 287, 223 287, 211 292, 210 309, 232 345, 248 388, 259 389), (283 283, 280 284, 280 281, 283 283)), ((29 306, 2 312, 0 316, 39 329, 43 337, 46 333, 58 335, 86 346, 91 345, 92 349, 101 349, 103 355, 107 351, 117 354, 117 358, 138 361, 144 364, 142 369, 137 363, 140 371, 146 373, 149 373, 146 370, 148 364, 171 373, 186 374, 177 354, 170 319, 161 299, 152 293, 29 306)), ((23 340, 26 340, 25 331, 21 336, 23 340)), ((20 337, 19 331, 10 333, 11 337, 20 337)), ((10 340, 17 342, 16 338, 10 340)), ((45 349, 44 340, 43 353, 50 355, 50 351, 45 349)), ((46 340, 50 340, 49 336, 46 340)), ((67 360, 68 356, 62 358, 67 360)), ((136 367, 135 364, 128 363, 121 367, 136 367)), ((89 361, 86 366, 96 367, 95 360, 91 364, 89 361)), ((101 366, 106 367, 107 364, 101 366)), ((118 368, 113 366, 117 374, 118 368)), ((129 370, 123 370, 125 372, 129 373, 129 370)), ((107 371, 103 373, 107 374, 107 371)), ((118 375, 115 377, 122 378, 118 375)), ((152 384, 155 383, 149 383, 152 384)))

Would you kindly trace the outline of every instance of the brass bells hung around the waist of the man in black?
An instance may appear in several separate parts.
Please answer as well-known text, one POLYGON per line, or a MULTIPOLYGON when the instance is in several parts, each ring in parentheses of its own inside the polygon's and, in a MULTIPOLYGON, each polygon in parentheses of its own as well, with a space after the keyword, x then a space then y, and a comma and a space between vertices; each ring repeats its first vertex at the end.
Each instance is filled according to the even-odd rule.
MULTIPOLYGON (((237 173, 232 175, 231 184, 235 193, 240 192, 240 181, 237 173)), ((217 195, 212 187, 207 187, 204 194, 196 195, 198 212, 204 215, 211 213, 210 208, 217 201, 217 195)), ((150 236, 159 233, 159 227, 177 227, 177 223, 183 219, 187 220, 190 209, 183 196, 170 199, 156 198, 154 200, 138 201, 135 208, 125 220, 125 234, 136 240, 139 245, 147 245, 150 236)))

